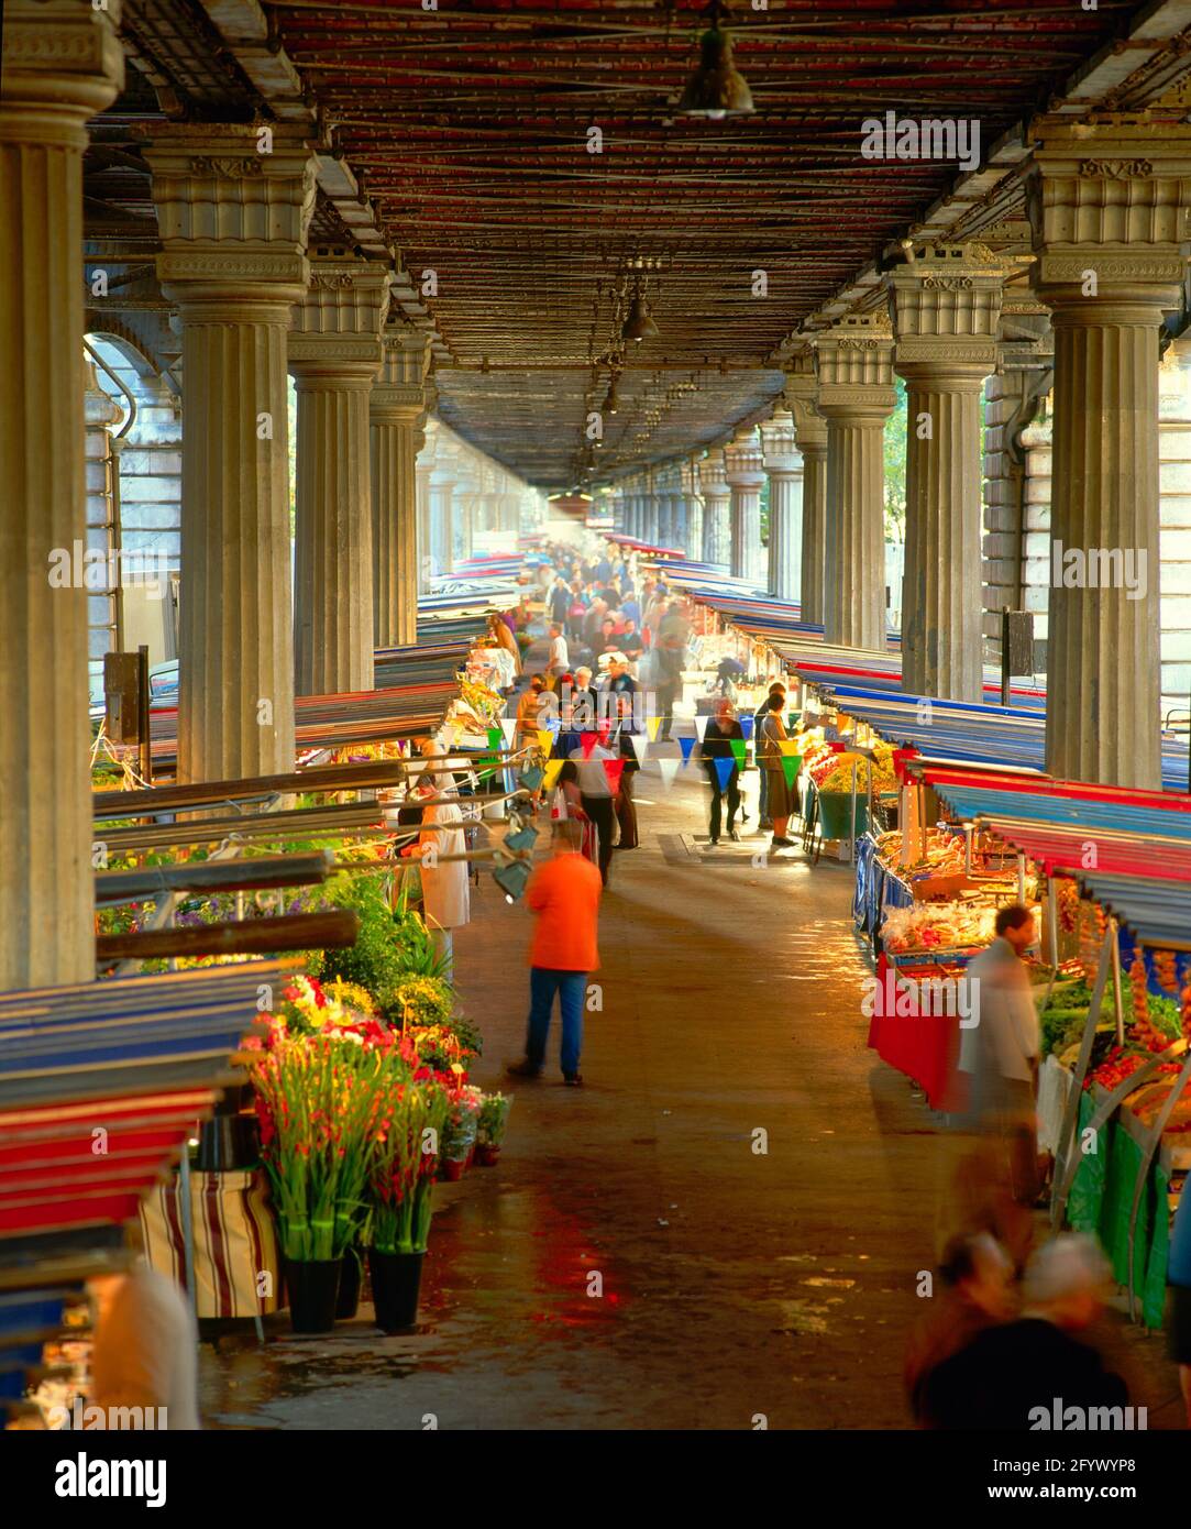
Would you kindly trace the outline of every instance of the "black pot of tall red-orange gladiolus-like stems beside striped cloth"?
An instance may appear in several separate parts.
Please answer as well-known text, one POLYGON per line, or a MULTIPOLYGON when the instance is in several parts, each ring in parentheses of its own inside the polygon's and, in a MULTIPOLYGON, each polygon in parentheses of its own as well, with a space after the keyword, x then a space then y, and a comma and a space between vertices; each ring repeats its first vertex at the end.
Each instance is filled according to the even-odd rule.
POLYGON ((364 1191, 384 1052, 353 1031, 287 1035, 252 1076, 295 1332, 330 1332, 364 1191))

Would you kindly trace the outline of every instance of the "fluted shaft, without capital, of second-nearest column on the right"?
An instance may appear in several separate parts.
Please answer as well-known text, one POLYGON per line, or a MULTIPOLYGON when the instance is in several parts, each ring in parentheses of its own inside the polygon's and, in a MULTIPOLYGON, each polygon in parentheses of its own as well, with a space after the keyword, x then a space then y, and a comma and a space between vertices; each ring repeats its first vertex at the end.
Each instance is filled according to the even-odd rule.
POLYGON ((907 376, 902 685, 983 700, 980 394, 985 378, 907 376))

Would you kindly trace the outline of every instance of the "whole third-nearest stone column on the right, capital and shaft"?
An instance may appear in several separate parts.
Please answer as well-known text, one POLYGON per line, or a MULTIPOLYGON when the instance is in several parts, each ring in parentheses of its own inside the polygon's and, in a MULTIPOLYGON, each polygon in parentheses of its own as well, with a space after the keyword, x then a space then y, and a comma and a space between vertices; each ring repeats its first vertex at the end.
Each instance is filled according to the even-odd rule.
POLYGON ((885 647, 885 420, 893 413, 888 321, 849 315, 815 336, 827 419, 824 638, 885 647))

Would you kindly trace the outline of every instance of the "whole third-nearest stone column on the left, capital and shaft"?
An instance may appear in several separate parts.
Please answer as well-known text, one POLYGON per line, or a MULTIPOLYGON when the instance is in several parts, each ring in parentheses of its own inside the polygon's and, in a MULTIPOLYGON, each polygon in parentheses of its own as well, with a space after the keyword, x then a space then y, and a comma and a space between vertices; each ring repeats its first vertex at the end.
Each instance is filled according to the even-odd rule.
POLYGON ((368 396, 390 280, 381 261, 312 260, 310 291, 289 338, 298 393, 300 696, 373 687, 368 396))

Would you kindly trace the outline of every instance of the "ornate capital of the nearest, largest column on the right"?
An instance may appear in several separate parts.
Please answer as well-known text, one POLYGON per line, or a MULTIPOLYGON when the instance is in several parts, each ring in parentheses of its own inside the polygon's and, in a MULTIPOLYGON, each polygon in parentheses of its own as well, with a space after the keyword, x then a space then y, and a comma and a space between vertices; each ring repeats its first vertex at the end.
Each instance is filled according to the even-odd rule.
POLYGON ((1179 307, 1180 246, 1191 235, 1191 124, 1183 116, 1098 113, 1032 124, 1032 280, 1061 323, 1104 323, 1105 303, 1122 323, 1156 323, 1179 307))

